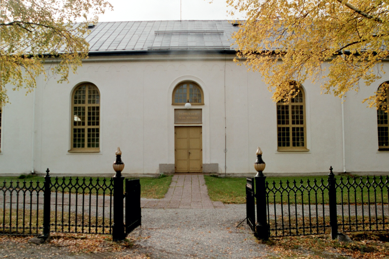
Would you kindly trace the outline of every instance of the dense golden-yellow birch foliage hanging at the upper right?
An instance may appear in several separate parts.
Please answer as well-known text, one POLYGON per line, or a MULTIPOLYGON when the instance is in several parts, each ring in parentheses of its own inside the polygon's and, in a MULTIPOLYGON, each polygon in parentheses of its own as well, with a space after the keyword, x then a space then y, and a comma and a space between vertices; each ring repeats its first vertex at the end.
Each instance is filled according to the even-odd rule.
MULTIPOLYGON (((236 61, 262 73, 274 101, 296 94, 292 80, 316 82, 322 93, 342 98, 350 90, 358 91, 361 82, 370 85, 385 73, 383 61, 389 55, 388 0, 227 3, 247 14, 234 35, 238 44, 236 61)), ((380 87, 364 101, 379 108, 387 88, 380 87)))

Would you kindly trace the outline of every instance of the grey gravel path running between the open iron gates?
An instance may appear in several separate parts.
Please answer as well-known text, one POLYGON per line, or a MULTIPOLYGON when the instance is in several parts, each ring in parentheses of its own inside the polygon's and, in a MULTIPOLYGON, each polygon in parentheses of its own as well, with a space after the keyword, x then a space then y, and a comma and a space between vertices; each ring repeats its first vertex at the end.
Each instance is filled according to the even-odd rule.
POLYGON ((246 224, 245 205, 224 209, 142 209, 142 227, 130 236, 151 258, 263 258, 246 224))

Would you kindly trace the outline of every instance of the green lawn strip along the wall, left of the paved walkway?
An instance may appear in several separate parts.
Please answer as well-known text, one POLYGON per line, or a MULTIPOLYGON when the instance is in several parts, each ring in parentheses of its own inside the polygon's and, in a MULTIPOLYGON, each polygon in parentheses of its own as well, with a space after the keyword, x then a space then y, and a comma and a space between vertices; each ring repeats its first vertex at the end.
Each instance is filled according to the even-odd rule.
MULTIPOLYGON (((65 192, 65 193, 91 193, 99 195, 109 195, 112 191, 112 185, 110 184, 111 177, 51 177, 51 183, 54 184, 52 191, 65 192), (64 187, 62 187, 64 186, 64 187)), ((167 192, 172 176, 160 176, 160 177, 140 177, 140 196, 142 198, 163 198, 167 192)), ((10 176, 0 177, 0 186, 8 188, 29 188, 31 185, 33 188, 39 186, 43 188, 44 177, 42 176, 10 176)), ((11 188, 11 189, 13 189, 11 188)))

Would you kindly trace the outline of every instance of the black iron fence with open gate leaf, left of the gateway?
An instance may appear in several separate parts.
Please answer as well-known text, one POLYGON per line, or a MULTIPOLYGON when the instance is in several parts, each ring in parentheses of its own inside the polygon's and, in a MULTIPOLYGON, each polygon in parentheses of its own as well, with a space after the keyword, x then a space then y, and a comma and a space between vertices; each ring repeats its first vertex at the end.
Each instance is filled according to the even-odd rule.
POLYGON ((116 178, 52 179, 47 169, 43 183, 4 181, 0 185, 0 235, 43 233, 47 238, 50 232, 115 235, 116 231, 114 239, 123 239, 141 224, 140 183, 139 179, 126 179, 123 194, 124 177, 116 178), (120 224, 124 208, 125 228, 120 224))

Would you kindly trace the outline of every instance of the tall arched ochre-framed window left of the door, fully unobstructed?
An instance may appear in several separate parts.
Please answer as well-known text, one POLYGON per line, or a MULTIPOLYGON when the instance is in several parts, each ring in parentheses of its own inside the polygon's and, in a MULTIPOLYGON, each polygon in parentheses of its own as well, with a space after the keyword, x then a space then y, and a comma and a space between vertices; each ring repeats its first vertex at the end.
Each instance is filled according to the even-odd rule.
POLYGON ((72 147, 74 152, 100 151, 100 92, 83 83, 72 94, 72 147))

